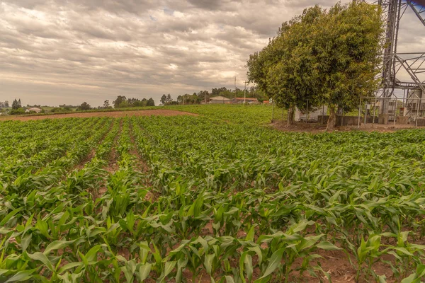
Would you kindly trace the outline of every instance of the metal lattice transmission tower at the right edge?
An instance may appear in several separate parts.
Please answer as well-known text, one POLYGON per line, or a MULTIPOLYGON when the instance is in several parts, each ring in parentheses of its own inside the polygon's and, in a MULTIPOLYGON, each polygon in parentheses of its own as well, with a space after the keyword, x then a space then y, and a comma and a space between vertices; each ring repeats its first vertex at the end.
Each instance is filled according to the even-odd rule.
MULTIPOLYGON (((378 4, 382 7, 386 23, 381 97, 395 98, 397 97, 395 89, 402 89, 407 91, 407 96, 416 96, 416 100, 422 98, 422 93, 425 93, 425 78, 421 78, 421 74, 425 74, 425 52, 399 53, 397 42, 400 20, 407 8, 412 8, 423 25, 425 25, 425 8, 412 0, 378 0, 378 4)), ((381 114, 388 114, 389 103, 390 99, 382 100, 381 114)), ((425 106, 421 110, 425 110, 425 106)), ((419 108, 416 111, 419 111, 419 108)))

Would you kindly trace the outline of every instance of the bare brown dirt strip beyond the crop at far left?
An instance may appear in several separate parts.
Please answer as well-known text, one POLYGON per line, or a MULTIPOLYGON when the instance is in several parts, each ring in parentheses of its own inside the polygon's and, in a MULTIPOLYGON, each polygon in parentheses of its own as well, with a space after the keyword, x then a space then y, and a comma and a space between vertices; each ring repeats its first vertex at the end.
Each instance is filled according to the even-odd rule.
POLYGON ((40 115, 40 116, 6 116, 0 117, 0 121, 5 120, 42 120, 42 119, 60 119, 60 118, 86 118, 86 117, 125 117, 125 116, 150 116, 150 115, 162 115, 162 116, 177 116, 177 115, 191 115, 198 116, 193 113, 176 111, 176 110, 133 110, 133 111, 111 111, 111 112, 81 112, 81 113, 69 113, 69 114, 57 114, 57 115, 40 115))

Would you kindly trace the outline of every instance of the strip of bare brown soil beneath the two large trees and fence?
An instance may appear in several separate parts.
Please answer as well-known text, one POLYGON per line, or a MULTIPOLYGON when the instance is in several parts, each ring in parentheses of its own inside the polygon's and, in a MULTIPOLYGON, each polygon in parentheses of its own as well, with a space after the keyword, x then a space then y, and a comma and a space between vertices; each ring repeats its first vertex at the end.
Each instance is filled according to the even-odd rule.
MULTIPOLYGON (((274 129, 278 129, 282 132, 307 132, 311 134, 319 134, 326 132, 326 125, 319 123, 305 123, 305 122, 295 122, 294 125, 289 127, 286 125, 286 121, 273 122, 269 125, 274 129)), ((364 131, 364 132, 395 132, 400 129, 414 129, 414 125, 380 125, 380 124, 366 124, 357 126, 341 126, 336 127, 334 132, 348 132, 348 131, 364 131)))

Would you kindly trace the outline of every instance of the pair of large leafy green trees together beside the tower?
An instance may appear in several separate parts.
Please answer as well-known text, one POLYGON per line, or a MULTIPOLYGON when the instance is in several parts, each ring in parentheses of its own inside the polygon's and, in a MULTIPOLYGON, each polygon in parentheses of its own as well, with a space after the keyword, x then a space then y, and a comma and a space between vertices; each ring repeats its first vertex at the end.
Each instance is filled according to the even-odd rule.
POLYGON ((383 33, 378 5, 352 1, 329 11, 314 6, 282 24, 268 45, 251 54, 249 81, 254 81, 281 108, 288 124, 295 108, 328 105, 328 129, 335 127, 336 108, 350 112, 361 96, 373 96, 380 81, 383 33))

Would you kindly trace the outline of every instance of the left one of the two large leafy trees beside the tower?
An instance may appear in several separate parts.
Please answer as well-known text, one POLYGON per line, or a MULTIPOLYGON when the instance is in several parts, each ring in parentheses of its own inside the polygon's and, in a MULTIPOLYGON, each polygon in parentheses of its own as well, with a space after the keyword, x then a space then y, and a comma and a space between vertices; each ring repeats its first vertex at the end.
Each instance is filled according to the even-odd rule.
POLYGON ((283 23, 278 35, 247 62, 249 81, 256 83, 278 107, 288 110, 288 125, 293 124, 295 108, 305 110, 307 105, 314 105, 310 37, 321 15, 322 9, 314 6, 283 23))

